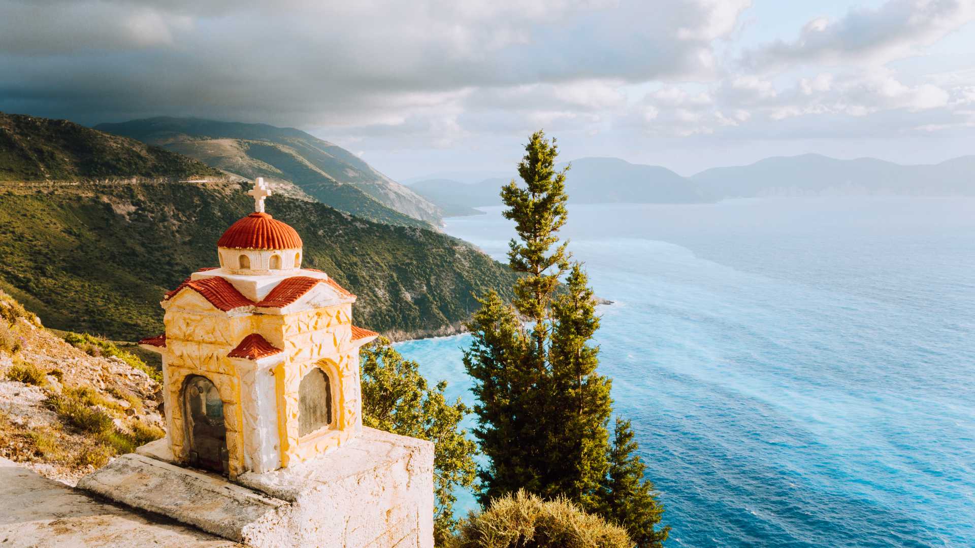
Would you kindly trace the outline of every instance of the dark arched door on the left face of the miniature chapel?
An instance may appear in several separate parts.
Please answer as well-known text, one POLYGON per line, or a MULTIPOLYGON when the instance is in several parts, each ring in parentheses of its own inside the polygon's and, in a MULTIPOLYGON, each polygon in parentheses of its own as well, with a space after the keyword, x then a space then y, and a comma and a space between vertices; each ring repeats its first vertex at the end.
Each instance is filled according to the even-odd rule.
POLYGON ((209 378, 200 375, 186 378, 183 385, 183 416, 186 420, 190 464, 226 474, 229 471, 229 453, 223 401, 209 378))

